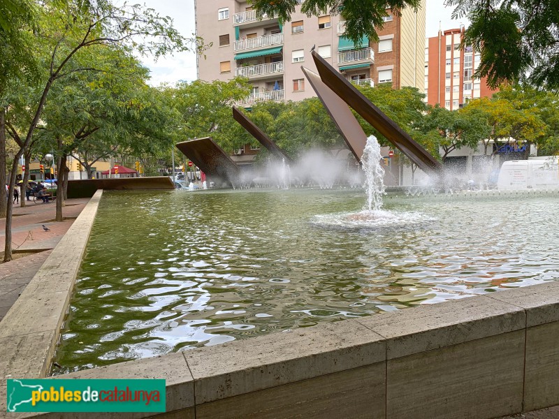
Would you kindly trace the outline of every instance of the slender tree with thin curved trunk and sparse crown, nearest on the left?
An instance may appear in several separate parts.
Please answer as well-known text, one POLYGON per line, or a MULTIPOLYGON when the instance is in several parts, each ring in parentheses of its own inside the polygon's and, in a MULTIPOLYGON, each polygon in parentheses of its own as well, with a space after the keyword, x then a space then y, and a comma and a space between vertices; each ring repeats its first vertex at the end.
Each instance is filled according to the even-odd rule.
MULTIPOLYGON (((96 3, 69 3, 58 7, 57 3, 45 1, 40 30, 36 37, 36 52, 45 54, 45 73, 41 84, 41 95, 38 103, 30 103, 34 116, 29 126, 20 135, 20 150, 15 154, 10 176, 10 191, 6 212, 6 246, 4 261, 11 260, 11 217, 13 186, 17 171, 17 161, 29 147, 38 125, 48 94, 53 85, 72 73, 82 71, 112 71, 109 63, 106 66, 80 66, 73 68, 68 65, 79 61, 88 50, 106 45, 119 45, 129 48, 138 54, 154 54, 159 57, 173 50, 187 50, 192 43, 197 49, 202 45, 199 40, 183 38, 172 25, 168 17, 161 17, 152 9, 144 9, 139 5, 114 6, 106 1, 96 3)), ((101 63, 100 63, 101 64, 101 63)))

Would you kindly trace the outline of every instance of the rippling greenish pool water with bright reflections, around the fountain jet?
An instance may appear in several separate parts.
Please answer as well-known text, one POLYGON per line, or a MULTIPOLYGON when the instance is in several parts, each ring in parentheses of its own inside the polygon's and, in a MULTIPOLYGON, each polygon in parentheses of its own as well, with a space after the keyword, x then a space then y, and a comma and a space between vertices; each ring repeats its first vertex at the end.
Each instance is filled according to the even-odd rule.
POLYGON ((362 206, 358 191, 106 193, 55 360, 65 372, 559 278, 556 196, 394 198, 347 219, 362 206))

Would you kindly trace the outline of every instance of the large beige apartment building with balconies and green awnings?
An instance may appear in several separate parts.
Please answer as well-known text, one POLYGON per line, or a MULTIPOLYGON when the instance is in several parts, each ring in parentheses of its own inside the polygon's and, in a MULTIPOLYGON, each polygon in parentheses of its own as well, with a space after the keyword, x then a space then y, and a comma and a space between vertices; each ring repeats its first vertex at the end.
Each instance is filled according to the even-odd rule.
POLYGON ((195 8, 196 35, 212 43, 205 57, 198 56, 198 78, 249 78, 252 94, 243 105, 316 96, 300 68, 316 71, 313 46, 354 84, 390 83, 423 91, 426 0, 417 13, 387 10, 378 43, 366 37, 353 43, 344 36, 340 15, 307 17, 300 6, 284 25, 274 16, 258 20, 246 0, 198 0, 195 8))

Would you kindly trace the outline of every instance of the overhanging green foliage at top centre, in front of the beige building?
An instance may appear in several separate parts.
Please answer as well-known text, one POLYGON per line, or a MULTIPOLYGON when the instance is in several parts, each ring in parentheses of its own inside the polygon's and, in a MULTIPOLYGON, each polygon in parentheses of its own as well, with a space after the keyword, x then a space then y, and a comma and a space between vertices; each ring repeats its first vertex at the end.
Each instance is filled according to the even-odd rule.
MULTIPOLYGON (((289 22, 300 0, 252 0, 252 6, 259 17, 277 15, 282 22, 289 22)), ((377 29, 384 25, 383 17, 388 16, 387 9, 399 13, 407 7, 417 10, 419 0, 305 0, 301 11, 310 15, 340 14, 346 22, 344 36, 355 43, 361 43, 363 35, 372 41, 379 41, 377 29)))

